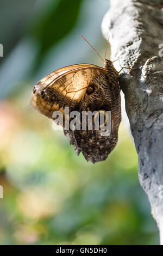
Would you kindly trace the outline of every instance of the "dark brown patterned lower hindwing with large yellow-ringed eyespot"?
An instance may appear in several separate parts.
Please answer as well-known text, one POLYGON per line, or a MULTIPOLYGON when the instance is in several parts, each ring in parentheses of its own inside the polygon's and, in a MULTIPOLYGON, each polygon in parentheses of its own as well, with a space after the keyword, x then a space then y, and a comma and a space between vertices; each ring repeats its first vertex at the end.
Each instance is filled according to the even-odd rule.
MULTIPOLYGON (((87 92, 84 94, 80 102, 80 116, 87 110, 92 113, 100 110, 105 113, 110 112, 111 132, 104 134, 100 129, 80 129, 64 130, 64 133, 78 155, 82 152, 87 161, 96 163, 106 160, 117 143, 118 127, 121 122, 121 98, 118 80, 114 76, 110 74, 100 75, 93 78, 92 83, 98 84, 98 90, 95 90, 91 95, 87 95, 87 92)), ((86 120, 86 126, 88 127, 88 120, 86 120)))

